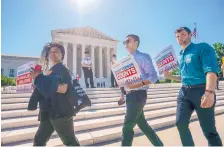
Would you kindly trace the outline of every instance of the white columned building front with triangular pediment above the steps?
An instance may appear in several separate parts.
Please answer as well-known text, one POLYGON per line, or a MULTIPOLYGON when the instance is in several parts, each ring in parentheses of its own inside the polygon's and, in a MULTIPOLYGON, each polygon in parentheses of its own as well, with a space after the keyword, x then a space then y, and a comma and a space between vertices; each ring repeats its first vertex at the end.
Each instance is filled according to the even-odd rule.
POLYGON ((92 58, 94 85, 105 82, 110 86, 111 56, 117 53, 118 41, 91 27, 61 29, 51 31, 52 41, 60 42, 65 48, 64 64, 73 73, 79 74, 84 86, 81 60, 84 52, 89 51, 92 58))

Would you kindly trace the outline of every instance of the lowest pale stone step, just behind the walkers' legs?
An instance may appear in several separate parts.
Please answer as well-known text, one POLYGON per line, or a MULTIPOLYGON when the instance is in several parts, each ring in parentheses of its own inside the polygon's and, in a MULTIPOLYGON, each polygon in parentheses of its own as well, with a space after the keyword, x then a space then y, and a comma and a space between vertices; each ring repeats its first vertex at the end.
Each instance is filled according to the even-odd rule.
MULTIPOLYGON (((216 114, 224 113, 224 106, 217 107, 215 110, 216 114)), ((195 113, 192 115, 192 120, 197 119, 195 113)), ((153 129, 161 129, 164 127, 172 126, 175 124, 175 116, 166 116, 163 118, 156 118, 154 120, 149 120, 148 123, 153 129)), ((37 128, 36 128, 37 129, 37 128)), ((10 146, 32 146, 32 139, 34 138, 34 134, 36 129, 27 128, 21 130, 14 130, 8 134, 2 133, 2 145, 10 145, 10 146), (17 143, 19 142, 20 143, 17 143), (21 143, 21 141, 30 141, 29 143, 21 143)), ((99 130, 89 130, 88 132, 78 132, 77 137, 80 140, 81 145, 96 145, 102 142, 108 142, 116 139, 120 139, 122 137, 122 125, 114 126, 110 128, 102 128, 99 130)), ((141 133, 138 126, 135 127, 135 133, 141 133)), ((53 134, 56 136, 56 133, 53 134)), ((60 139, 58 137, 50 139, 47 144, 48 146, 59 146, 62 145, 60 139)))

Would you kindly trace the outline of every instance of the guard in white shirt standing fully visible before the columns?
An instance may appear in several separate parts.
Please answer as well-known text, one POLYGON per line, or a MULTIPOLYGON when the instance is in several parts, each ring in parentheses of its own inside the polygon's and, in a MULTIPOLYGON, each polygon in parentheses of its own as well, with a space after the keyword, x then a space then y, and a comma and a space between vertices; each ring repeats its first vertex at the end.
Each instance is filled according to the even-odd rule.
POLYGON ((86 88, 89 88, 88 78, 90 79, 91 88, 96 88, 94 87, 93 82, 92 59, 90 57, 89 51, 85 51, 84 54, 85 58, 82 60, 82 69, 84 72, 86 88))

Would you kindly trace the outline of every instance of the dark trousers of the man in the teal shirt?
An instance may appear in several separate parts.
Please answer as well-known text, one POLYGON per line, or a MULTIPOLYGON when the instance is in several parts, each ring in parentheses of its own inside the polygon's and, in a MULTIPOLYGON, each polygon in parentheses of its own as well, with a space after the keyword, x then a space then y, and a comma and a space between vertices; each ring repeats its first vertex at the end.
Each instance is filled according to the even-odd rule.
POLYGON ((199 88, 182 87, 177 98, 176 125, 183 146, 194 146, 189 120, 195 110, 200 126, 209 146, 222 146, 222 141, 215 127, 214 107, 201 108, 201 97, 205 92, 205 85, 199 88))

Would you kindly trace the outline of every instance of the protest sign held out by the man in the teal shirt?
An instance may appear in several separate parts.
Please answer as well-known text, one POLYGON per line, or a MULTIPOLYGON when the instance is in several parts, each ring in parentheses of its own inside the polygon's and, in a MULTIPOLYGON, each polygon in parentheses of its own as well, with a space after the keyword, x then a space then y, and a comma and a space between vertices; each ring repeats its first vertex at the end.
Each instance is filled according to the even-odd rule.
POLYGON ((178 67, 178 60, 172 45, 162 50, 154 59, 160 75, 178 67))

